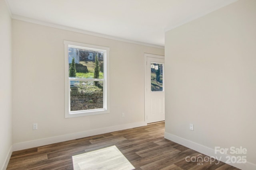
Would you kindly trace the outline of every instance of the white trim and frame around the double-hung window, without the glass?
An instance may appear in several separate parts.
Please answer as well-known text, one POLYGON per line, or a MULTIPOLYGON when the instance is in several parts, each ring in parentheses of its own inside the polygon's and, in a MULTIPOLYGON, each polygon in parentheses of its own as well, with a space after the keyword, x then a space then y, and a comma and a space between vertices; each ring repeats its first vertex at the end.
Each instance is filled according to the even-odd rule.
MULTIPOLYGON (((98 45, 90 45, 84 43, 76 43, 72 41, 64 40, 64 57, 65 57, 65 118, 68 117, 79 117, 79 116, 86 116, 86 115, 96 115, 96 114, 103 114, 103 113, 110 113, 110 98, 109 98, 109 51, 110 48, 108 47, 101 47, 98 45), (80 110, 80 111, 70 111, 70 80, 69 80, 69 63, 68 63, 68 46, 78 46, 80 49, 85 50, 97 50, 104 53, 104 106, 103 109, 90 109, 90 110, 80 110)), ((74 78, 79 80, 79 78, 74 78)), ((88 79, 89 80, 89 79, 88 79)), ((92 78, 92 81, 99 80, 92 78)), ((102 80, 102 79, 100 79, 102 80)))

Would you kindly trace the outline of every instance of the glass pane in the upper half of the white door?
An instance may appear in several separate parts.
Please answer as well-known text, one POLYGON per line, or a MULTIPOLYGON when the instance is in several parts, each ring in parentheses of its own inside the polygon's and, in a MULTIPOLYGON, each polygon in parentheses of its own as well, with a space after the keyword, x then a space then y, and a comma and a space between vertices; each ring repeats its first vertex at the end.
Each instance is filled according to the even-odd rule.
POLYGON ((163 91, 164 64, 151 63, 151 91, 163 91))

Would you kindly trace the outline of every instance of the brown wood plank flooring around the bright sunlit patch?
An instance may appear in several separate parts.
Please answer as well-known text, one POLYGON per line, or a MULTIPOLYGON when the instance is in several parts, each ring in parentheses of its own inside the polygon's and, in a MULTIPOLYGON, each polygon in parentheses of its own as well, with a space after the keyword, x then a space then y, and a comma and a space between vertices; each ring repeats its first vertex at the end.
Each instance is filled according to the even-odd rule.
POLYGON ((72 156, 113 145, 136 170, 239 170, 217 161, 187 162, 186 156, 200 153, 164 139, 164 122, 16 151, 7 170, 72 170, 72 156))

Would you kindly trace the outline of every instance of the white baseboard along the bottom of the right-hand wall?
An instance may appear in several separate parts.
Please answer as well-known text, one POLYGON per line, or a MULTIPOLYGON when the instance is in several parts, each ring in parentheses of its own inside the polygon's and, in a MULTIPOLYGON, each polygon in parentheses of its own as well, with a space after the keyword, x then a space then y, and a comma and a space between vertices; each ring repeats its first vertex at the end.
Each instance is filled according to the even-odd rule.
MULTIPOLYGON (((167 133, 167 132, 164 133, 164 138, 168 139, 170 141, 176 142, 176 143, 178 143, 180 145, 183 145, 185 147, 188 147, 190 149, 196 150, 197 152, 200 152, 200 153, 205 154, 207 156, 214 157, 217 160, 220 160, 222 162, 226 162, 227 161, 226 156, 230 156, 228 154, 220 154, 219 152, 215 154, 215 150, 212 149, 212 148, 206 147, 204 145, 200 145, 198 143, 189 141, 187 139, 178 137, 176 135, 172 135, 172 134, 167 133)), ((246 162, 244 164, 242 164, 242 163, 241 164, 228 163, 228 164, 230 164, 230 165, 232 165, 236 168, 240 168, 242 170, 256 170, 256 164, 253 164, 251 162, 246 162)))

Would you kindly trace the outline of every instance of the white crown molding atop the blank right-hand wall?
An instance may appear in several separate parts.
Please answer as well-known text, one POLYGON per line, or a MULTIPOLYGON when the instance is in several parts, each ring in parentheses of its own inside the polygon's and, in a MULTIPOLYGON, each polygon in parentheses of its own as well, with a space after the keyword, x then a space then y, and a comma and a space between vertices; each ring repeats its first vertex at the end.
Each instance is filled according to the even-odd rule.
POLYGON ((183 21, 181 21, 181 22, 179 22, 179 23, 176 23, 176 24, 174 23, 174 24, 168 25, 168 26, 164 29, 164 32, 170 31, 171 29, 174 29, 174 28, 176 28, 176 27, 179 27, 179 26, 181 26, 181 25, 184 25, 184 24, 186 24, 186 23, 188 23, 188 22, 190 22, 190 21, 193 21, 193 20, 196 20, 196 19, 198 19, 198 18, 201 18, 202 16, 205 16, 205 15, 207 15, 207 14, 210 14, 211 12, 214 12, 214 11, 216 11, 216 10, 218 10, 218 9, 220 9, 220 8, 223 8, 224 6, 227 6, 227 5, 229 5, 229 4, 232 4, 232 3, 236 2, 236 1, 238 1, 238 0, 227 0, 227 1, 223 1, 222 4, 219 4, 219 5, 217 5, 217 6, 214 6, 214 7, 210 8, 210 9, 204 10, 203 12, 200 12, 200 13, 198 13, 198 14, 196 14, 196 15, 190 16, 189 18, 186 18, 185 20, 183 20, 183 21))

